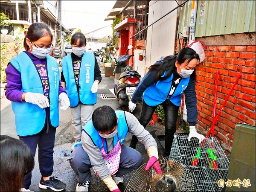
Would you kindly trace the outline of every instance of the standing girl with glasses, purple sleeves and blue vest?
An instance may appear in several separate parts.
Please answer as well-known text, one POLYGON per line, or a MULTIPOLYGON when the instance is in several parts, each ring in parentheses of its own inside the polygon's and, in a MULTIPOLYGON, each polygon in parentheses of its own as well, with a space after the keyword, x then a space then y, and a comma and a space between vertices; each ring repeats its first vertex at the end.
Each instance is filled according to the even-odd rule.
MULTIPOLYGON (((69 99, 59 80, 59 69, 52 50, 52 33, 44 23, 32 23, 24 38, 26 51, 13 58, 6 67, 6 98, 12 101, 15 126, 20 140, 35 156, 41 172, 39 187, 61 191, 66 184, 51 176, 53 147, 59 125, 59 104, 66 110, 69 99)), ((32 174, 24 178, 23 188, 29 189, 32 174)))

